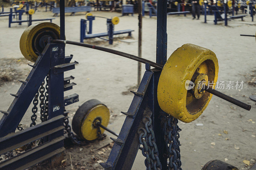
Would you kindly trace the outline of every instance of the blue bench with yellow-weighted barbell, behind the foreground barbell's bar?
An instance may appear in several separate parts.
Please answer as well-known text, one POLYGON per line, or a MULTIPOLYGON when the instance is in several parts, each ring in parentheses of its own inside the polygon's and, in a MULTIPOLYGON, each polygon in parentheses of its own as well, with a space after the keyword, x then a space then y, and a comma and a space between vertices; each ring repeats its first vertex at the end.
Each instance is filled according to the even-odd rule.
POLYGON ((100 38, 103 40, 107 40, 109 44, 113 44, 113 35, 117 34, 124 34, 128 33, 129 36, 132 36, 132 31, 131 29, 127 30, 120 30, 120 31, 114 31, 114 25, 119 23, 119 18, 118 17, 113 17, 113 18, 105 18, 105 17, 98 17, 98 18, 105 18, 107 19, 107 33, 92 33, 92 21, 95 20, 95 17, 97 16, 92 16, 92 13, 87 13, 85 15, 86 19, 81 19, 80 21, 80 42, 84 42, 84 39, 90 39, 90 38, 100 38), (89 31, 87 32, 87 21, 89 21, 89 31), (87 33, 87 34, 86 34, 87 33), (108 36, 108 39, 102 38, 108 36))

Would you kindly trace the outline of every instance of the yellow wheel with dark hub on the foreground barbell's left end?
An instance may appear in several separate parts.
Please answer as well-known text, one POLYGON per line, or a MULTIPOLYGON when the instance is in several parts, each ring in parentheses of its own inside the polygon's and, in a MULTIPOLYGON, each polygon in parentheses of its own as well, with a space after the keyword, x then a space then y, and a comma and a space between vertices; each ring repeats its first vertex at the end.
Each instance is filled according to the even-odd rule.
POLYGON ((60 27, 51 22, 42 22, 29 26, 20 37, 20 51, 29 61, 36 62, 37 53, 42 53, 47 37, 60 39, 60 27))

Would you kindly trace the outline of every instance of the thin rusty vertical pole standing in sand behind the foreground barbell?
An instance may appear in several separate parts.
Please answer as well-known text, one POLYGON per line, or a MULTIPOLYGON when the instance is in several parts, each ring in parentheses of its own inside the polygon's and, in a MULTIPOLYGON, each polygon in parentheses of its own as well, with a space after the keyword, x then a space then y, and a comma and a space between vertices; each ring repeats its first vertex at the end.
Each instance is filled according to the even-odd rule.
MULTIPOLYGON (((141 45, 142 45, 142 2, 141 0, 138 1, 138 20, 139 20, 139 42, 138 42, 138 56, 141 57, 141 45)), ((138 83, 137 87, 140 85, 141 80, 141 63, 138 62, 138 83)))

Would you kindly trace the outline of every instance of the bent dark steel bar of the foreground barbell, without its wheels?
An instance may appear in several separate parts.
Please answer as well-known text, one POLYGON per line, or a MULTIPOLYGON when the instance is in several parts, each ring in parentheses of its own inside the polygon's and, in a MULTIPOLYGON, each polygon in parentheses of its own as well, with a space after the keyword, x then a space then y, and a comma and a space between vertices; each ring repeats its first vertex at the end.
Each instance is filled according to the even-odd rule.
MULTIPOLYGON (((132 60, 135 60, 135 61, 138 61, 138 62, 141 62, 141 63, 144 63, 144 64, 149 63, 151 66, 153 66, 153 67, 155 67, 159 70, 163 70, 163 67, 164 67, 163 65, 155 63, 153 61, 150 61, 150 60, 147 60, 147 59, 144 59, 144 58, 140 58, 140 57, 132 55, 132 54, 124 53, 122 51, 117 51, 117 50, 114 50, 114 49, 110 49, 110 48, 100 47, 100 46, 91 45, 91 44, 85 44, 85 43, 76 42, 76 41, 50 40, 50 42, 71 44, 71 45, 77 45, 77 46, 82 46, 82 47, 86 47, 86 48, 97 49, 97 50, 100 50, 100 51, 105 51, 105 52, 108 52, 108 53, 112 53, 112 54, 120 55, 120 56, 123 56, 123 57, 126 57, 126 58, 130 58, 132 60)), ((224 100, 226 100, 230 103, 233 103, 238 107, 242 107, 242 108, 244 108, 245 110, 248 110, 248 111, 251 110, 251 105, 248 105, 248 104, 246 104, 242 101, 236 100, 235 98, 233 98, 231 96, 228 96, 224 93, 221 93, 221 92, 219 92, 215 89, 212 89, 211 87, 205 86, 205 88, 202 88, 202 89, 204 89, 204 91, 206 91, 206 92, 209 92, 209 93, 211 93, 215 96, 220 97, 221 99, 224 99, 224 100)))

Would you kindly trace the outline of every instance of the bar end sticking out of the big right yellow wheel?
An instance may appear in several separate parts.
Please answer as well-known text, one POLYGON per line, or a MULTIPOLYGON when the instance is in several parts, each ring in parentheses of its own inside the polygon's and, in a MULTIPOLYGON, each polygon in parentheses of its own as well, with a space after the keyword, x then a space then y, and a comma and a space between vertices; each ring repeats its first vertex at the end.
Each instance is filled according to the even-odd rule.
POLYGON ((236 100, 235 98, 233 98, 231 96, 228 96, 228 95, 226 95, 226 94, 224 94, 222 92, 219 92, 219 91, 217 91, 215 89, 212 89, 211 87, 209 87, 207 85, 204 85, 204 90, 206 92, 209 92, 209 93, 215 95, 215 96, 220 97, 221 99, 224 99, 224 100, 226 100, 226 101, 228 101, 230 103, 233 103, 236 106, 242 107, 245 110, 251 110, 251 107, 252 107, 251 105, 248 105, 248 104, 246 104, 246 103, 244 103, 242 101, 236 100))

